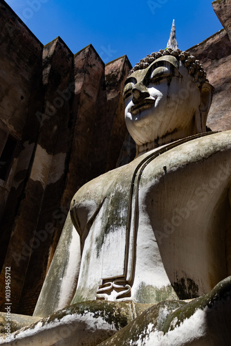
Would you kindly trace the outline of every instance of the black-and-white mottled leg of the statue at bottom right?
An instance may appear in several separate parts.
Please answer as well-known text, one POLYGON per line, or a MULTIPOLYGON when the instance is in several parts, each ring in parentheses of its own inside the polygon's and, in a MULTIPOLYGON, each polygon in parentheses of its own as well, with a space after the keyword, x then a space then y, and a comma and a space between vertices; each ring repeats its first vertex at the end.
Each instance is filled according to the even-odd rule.
POLYGON ((226 346, 230 343, 231 279, 177 308, 162 302, 147 309, 100 346, 226 346), (171 311, 172 309, 172 311, 171 311))

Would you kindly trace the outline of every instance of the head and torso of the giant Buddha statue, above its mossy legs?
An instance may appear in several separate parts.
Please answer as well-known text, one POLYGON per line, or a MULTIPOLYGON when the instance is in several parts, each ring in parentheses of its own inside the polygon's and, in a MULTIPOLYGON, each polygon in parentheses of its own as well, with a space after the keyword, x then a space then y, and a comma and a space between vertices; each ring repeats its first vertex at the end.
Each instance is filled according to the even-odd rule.
MULTIPOLYGON (((194 301, 207 309, 224 285, 231 295, 231 131, 206 129, 212 92, 198 60, 179 49, 152 53, 131 70, 123 97, 136 158, 76 192, 35 316, 59 309, 66 316, 88 301, 111 302, 116 311, 132 302, 157 304, 163 322, 166 301, 172 313, 195 316, 194 301)), ((142 316, 142 332, 157 328, 150 311, 142 316)), ((190 345, 226 345, 211 343, 206 330, 208 341, 200 343, 197 334, 190 345)), ((187 345, 174 338, 166 345, 187 345)), ((145 334, 145 343, 130 339, 122 334, 102 345, 162 345, 165 334, 161 329, 151 343, 145 334)))

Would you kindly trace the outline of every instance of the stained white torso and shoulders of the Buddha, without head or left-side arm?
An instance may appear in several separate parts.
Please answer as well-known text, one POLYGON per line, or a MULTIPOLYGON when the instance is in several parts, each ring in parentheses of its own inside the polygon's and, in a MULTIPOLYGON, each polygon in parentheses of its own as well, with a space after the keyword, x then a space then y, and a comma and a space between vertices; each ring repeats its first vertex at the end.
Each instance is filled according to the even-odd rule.
POLYGON ((124 282, 132 282, 127 299, 136 302, 195 298, 231 273, 230 235, 226 234, 230 137, 231 131, 224 131, 185 140, 170 145, 169 151, 164 147, 161 155, 154 149, 78 190, 71 215, 84 251, 73 303, 92 300, 96 293, 98 298, 120 299, 121 292, 117 297, 115 289, 100 291, 98 286, 106 278, 108 284, 116 277, 121 277, 118 284, 122 282, 127 266, 124 282), (154 159, 146 166, 151 155, 154 159), (138 178, 132 184, 136 167, 142 171, 136 173, 139 185, 138 178), (136 210, 131 211, 129 240, 127 210, 136 210), (127 266, 125 244, 131 251, 127 266), (129 272, 130 266, 136 268, 134 273, 129 272))

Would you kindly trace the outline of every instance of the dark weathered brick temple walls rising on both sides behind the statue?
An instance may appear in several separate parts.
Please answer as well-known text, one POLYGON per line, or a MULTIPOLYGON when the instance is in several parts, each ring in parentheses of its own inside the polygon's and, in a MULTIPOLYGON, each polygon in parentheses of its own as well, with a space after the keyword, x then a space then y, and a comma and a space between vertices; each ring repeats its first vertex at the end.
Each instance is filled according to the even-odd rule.
MULTIPOLYGON (((221 2, 214 10, 230 33, 221 2)), ((73 55, 60 37, 43 47, 3 0, 0 19, 0 154, 9 134, 17 142, 0 181, 0 304, 4 268, 12 266, 12 312, 33 313, 73 194, 115 168, 121 148, 120 163, 134 156, 122 101, 131 64, 124 55, 105 66, 91 45, 73 55), (133 156, 126 158, 127 148, 133 156)), ((228 34, 221 30, 190 53, 215 87, 208 126, 231 129, 228 34)))

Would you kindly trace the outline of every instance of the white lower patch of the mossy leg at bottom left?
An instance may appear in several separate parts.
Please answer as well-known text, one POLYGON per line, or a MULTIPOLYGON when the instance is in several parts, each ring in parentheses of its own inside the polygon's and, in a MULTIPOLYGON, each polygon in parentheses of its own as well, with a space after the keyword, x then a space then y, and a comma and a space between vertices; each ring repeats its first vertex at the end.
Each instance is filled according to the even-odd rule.
MULTIPOLYGON (((48 320, 48 319, 47 319, 48 320)), ((94 340, 113 335, 116 329, 102 317, 94 317, 94 314, 85 311, 83 315, 73 313, 64 316, 60 320, 55 319, 43 325, 37 322, 34 327, 26 327, 15 332, 4 340, 0 338, 2 346, 57 346, 57 345, 92 345, 94 340)))

